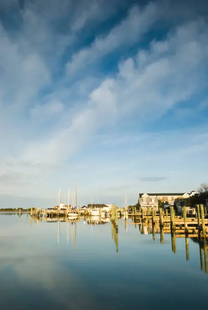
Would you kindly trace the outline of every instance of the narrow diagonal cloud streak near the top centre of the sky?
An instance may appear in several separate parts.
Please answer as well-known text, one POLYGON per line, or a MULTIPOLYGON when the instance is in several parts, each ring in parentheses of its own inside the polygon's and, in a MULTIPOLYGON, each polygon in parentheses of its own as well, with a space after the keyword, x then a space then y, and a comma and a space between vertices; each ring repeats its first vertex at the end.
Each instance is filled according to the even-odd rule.
POLYGON ((134 6, 125 20, 115 26, 106 36, 98 37, 88 48, 80 50, 67 63, 66 71, 74 74, 77 70, 92 63, 122 46, 135 43, 158 20, 159 12, 156 4, 150 3, 144 9, 134 6))

